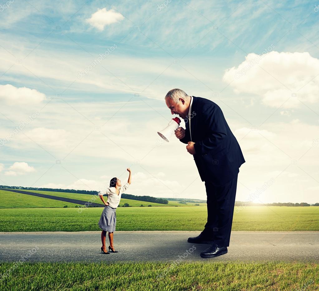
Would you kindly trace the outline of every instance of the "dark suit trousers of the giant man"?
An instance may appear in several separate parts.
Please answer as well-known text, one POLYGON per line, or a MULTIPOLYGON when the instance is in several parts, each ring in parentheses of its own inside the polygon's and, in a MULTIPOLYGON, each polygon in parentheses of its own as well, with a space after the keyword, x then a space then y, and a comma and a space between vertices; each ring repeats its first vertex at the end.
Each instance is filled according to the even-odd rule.
POLYGON ((205 181, 207 195, 207 223, 203 234, 219 247, 228 247, 233 224, 238 174, 222 186, 205 181))

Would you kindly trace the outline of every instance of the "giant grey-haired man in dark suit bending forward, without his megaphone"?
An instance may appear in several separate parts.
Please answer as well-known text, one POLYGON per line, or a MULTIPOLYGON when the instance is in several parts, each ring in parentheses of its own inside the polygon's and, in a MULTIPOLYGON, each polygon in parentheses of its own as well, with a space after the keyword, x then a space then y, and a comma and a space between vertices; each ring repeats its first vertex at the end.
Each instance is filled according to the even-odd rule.
POLYGON ((176 137, 186 143, 193 155, 200 178, 205 182, 207 223, 191 243, 208 243, 201 257, 217 257, 227 253, 233 222, 237 177, 245 163, 241 148, 231 132, 220 107, 211 100, 188 96, 172 89, 165 96, 172 114, 185 120, 176 137))

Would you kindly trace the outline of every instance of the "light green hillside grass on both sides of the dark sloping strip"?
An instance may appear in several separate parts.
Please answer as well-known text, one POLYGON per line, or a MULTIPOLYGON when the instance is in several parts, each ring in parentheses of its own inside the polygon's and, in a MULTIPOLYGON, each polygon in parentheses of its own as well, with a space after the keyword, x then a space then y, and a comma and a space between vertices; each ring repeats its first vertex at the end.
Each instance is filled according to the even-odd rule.
MULTIPOLYGON (((91 202, 99 203, 103 205, 100 197, 98 197, 97 195, 67 193, 67 192, 37 191, 37 190, 23 190, 23 191, 53 195, 58 197, 79 199, 83 201, 91 201, 91 202)), ((64 205, 68 205, 68 207, 75 207, 75 205, 78 205, 74 203, 67 203, 63 201, 51 200, 48 198, 35 197, 35 196, 20 194, 15 192, 8 192, 4 190, 0 190, 0 197, 1 197, 0 208, 63 207, 64 205), (35 199, 30 199, 30 197, 31 198, 33 197, 35 199)), ((107 201, 107 199, 108 197, 104 196, 104 200, 107 201)), ((167 206, 194 206, 194 204, 196 204, 196 203, 181 204, 181 203, 178 203, 177 201, 169 201, 168 204, 160 204, 160 203, 154 203, 154 202, 146 202, 146 201, 121 198, 120 207, 122 207, 124 203, 129 203, 130 206, 132 207, 139 207, 141 204, 143 204, 146 207, 147 205, 167 207, 167 206)), ((199 203, 199 204, 200 206, 206 207, 206 203, 199 203)))

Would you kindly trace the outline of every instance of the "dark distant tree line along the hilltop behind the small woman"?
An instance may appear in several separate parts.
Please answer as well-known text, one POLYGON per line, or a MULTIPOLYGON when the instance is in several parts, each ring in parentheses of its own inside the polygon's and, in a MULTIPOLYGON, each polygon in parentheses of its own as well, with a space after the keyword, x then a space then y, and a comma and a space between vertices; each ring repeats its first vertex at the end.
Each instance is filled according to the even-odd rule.
MULTIPOLYGON (((79 194, 90 194, 90 195, 97 195, 99 193, 98 191, 87 191, 87 190, 36 188, 36 187, 4 186, 4 185, 0 185, 0 188, 52 191, 52 192, 67 192, 67 193, 79 193, 79 194)), ((130 195, 130 194, 123 193, 122 198, 145 201, 145 202, 155 202, 155 203, 160 203, 160 204, 168 204, 168 200, 165 200, 162 198, 156 198, 156 197, 152 197, 152 196, 136 196, 136 195, 130 195)))

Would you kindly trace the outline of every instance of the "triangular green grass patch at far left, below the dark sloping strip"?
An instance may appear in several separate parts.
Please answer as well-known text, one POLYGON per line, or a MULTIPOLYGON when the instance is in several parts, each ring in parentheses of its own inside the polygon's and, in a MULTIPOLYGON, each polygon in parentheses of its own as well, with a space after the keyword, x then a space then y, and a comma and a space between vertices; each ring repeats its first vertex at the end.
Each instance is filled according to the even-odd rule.
POLYGON ((0 190, 0 208, 75 207, 75 203, 0 190))

